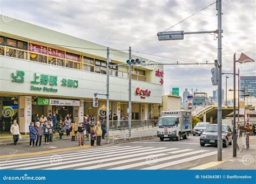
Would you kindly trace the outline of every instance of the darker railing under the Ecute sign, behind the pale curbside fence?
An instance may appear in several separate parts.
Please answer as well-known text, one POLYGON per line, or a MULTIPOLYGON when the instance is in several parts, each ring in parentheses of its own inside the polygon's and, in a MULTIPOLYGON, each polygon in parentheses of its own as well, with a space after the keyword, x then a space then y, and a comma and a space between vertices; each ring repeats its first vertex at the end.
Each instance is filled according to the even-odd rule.
MULTIPOLYGON (((118 120, 118 121, 109 121, 110 130, 126 130, 128 129, 128 120, 118 120)), ((154 126, 156 120, 149 119, 149 120, 132 120, 131 121, 131 128, 140 128, 145 126, 154 126)))

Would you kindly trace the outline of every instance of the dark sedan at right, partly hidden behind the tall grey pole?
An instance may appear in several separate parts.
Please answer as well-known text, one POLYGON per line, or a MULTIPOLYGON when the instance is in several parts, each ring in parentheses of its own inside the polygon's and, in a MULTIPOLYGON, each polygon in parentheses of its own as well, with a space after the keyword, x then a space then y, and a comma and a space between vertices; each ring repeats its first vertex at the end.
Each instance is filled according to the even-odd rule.
MULTIPOLYGON (((230 126, 222 125, 222 136, 223 147, 232 145, 233 133, 230 126)), ((218 141, 218 125, 210 124, 207 126, 205 131, 200 136, 200 145, 205 146, 205 144, 217 144, 218 141)))

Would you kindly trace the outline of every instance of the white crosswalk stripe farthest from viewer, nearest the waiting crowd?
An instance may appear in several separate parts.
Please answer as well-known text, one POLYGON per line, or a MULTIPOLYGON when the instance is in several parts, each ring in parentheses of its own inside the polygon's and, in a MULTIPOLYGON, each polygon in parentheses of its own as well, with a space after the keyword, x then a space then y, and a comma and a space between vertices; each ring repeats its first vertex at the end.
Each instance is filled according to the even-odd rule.
MULTIPOLYGON (((123 148, 120 148, 120 147, 118 147, 118 151, 122 151, 122 150, 130 150, 130 149, 133 149, 133 148, 139 148, 139 147, 142 147, 142 146, 136 146, 136 147, 127 147, 127 146, 124 146, 123 148)), ((151 147, 150 147, 151 148, 151 147)), ((100 153, 107 153, 107 152, 112 152, 112 151, 116 151, 116 149, 117 148, 115 148, 115 149, 109 149, 109 150, 99 150, 100 151, 100 153)), ((91 155, 91 154, 95 154, 95 152, 97 152, 97 151, 84 151, 83 153, 82 152, 79 152, 79 153, 76 153, 76 154, 72 154, 72 155, 70 155, 70 154, 60 154, 59 155, 59 157, 61 157, 62 159, 63 158, 70 158, 70 157, 74 157, 74 156, 76 156, 76 155, 91 155)), ((56 155, 56 154, 53 154, 53 155, 56 155)), ((53 155, 50 155, 50 156, 48 156, 48 157, 37 157, 37 158, 32 158, 32 159, 29 159, 29 160, 22 160, 22 161, 18 161, 17 162, 17 160, 12 160, 12 162, 10 163, 6 163, 6 164, 2 164, 2 165, 0 165, 1 167, 3 167, 3 166, 8 166, 8 165, 17 165, 17 164, 22 164, 22 163, 29 163, 29 162, 35 162, 35 161, 43 161, 43 160, 49 160, 49 158, 52 158, 52 157, 54 157, 53 155)), ((0 167, 0 169, 2 169, 0 167)))

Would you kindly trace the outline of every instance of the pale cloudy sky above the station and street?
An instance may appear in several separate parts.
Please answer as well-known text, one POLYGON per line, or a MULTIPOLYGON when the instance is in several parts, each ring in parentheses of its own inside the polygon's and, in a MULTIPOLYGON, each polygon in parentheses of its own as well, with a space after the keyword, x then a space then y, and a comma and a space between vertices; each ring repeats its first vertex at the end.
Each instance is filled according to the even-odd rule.
MULTIPOLYGON (((179 60, 205 62, 217 59, 214 35, 185 35, 184 40, 158 41, 157 32, 213 3, 213 0, 73 0, 21 1, 0 0, 0 13, 25 22, 89 40, 116 49, 156 54, 179 60)), ((244 52, 256 58, 255 0, 223 0, 223 72, 233 72, 233 54, 244 52)), ((215 4, 180 23, 170 31, 217 29, 215 4)), ((134 53, 136 54, 136 53, 134 53)), ((163 63, 176 60, 146 54, 145 58, 163 63)), ((256 75, 256 63, 240 65, 241 75, 256 75)), ((213 66, 165 66, 165 94, 171 87, 198 89, 212 96, 210 69, 213 66)), ((238 68, 237 67, 237 68, 238 68)), ((228 88, 232 88, 230 76, 228 88)), ((225 88, 225 77, 223 77, 225 88)), ((228 93, 231 98, 232 93, 228 93)))

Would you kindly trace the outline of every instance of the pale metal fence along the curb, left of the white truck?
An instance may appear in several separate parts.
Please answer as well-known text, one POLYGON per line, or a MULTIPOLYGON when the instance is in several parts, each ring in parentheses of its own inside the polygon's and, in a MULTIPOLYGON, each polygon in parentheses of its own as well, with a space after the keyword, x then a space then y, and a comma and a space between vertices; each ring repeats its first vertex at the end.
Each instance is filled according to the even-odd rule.
POLYGON ((142 139, 143 137, 156 137, 157 136, 157 128, 150 128, 150 129, 144 129, 144 130, 137 130, 131 132, 131 137, 129 138, 129 131, 122 131, 122 132, 113 132, 112 133, 112 142, 114 143, 114 140, 120 140, 123 139, 124 141, 139 138, 142 139))

